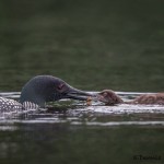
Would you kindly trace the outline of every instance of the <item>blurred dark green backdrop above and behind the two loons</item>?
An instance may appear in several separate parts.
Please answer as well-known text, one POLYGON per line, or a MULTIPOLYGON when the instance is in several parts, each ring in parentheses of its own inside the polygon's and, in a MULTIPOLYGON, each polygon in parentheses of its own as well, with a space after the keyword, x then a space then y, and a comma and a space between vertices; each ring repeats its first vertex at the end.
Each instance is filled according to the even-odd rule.
POLYGON ((164 91, 164 1, 1 0, 0 89, 36 74, 83 90, 164 91))

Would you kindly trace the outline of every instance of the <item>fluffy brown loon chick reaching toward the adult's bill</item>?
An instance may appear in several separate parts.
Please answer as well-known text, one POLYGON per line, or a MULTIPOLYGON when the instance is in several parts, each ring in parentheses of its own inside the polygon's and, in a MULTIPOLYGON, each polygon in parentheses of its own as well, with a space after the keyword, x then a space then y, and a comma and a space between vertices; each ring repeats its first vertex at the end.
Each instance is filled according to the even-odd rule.
POLYGON ((104 90, 97 94, 97 98, 98 101, 104 102, 105 105, 115 105, 120 103, 164 105, 164 93, 143 94, 130 102, 124 102, 114 91, 104 90))

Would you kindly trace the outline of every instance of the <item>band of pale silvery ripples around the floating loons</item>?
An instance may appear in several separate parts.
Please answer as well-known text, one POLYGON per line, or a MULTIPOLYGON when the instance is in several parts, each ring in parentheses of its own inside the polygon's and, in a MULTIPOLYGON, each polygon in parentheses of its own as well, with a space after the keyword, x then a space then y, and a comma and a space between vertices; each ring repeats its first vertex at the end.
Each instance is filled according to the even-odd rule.
MULTIPOLYGON (((96 92, 95 92, 96 93, 96 92)), ((145 93, 117 92, 125 101, 130 101, 145 93)), ((147 93, 149 94, 149 93, 147 93)), ((1 93, 0 96, 17 99, 20 92, 1 93)), ((103 103, 93 102, 87 106, 85 102, 56 102, 52 108, 30 109, 17 113, 0 115, 0 130, 9 124, 70 124, 86 126, 120 126, 120 125, 162 125, 164 120, 164 106, 162 105, 130 105, 105 106, 103 103), (141 121, 142 120, 142 121, 141 121)), ((15 128, 15 127, 14 127, 15 128)), ((11 128, 12 129, 12 128, 11 128)))

